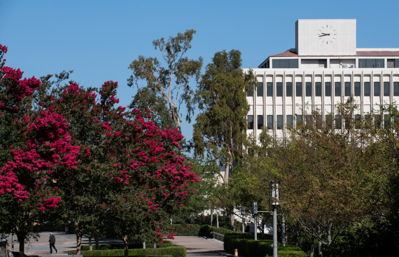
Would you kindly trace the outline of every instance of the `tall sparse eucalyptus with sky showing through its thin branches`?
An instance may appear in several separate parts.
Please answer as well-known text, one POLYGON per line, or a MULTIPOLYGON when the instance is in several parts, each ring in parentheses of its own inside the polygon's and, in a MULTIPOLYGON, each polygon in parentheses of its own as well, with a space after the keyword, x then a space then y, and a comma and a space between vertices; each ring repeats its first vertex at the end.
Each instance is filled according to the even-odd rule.
MULTIPOLYGON (((139 56, 134 60, 129 69, 133 74, 128 79, 128 86, 137 86, 138 94, 145 88, 150 89, 149 93, 156 94, 165 100, 170 111, 170 116, 174 121, 174 126, 181 132, 181 107, 185 104, 187 108, 186 120, 190 122, 193 115, 193 90, 191 84, 194 80, 200 79, 202 67, 202 58, 192 60, 184 57, 191 48, 194 29, 186 30, 184 33, 178 33, 176 37, 157 39, 153 41, 155 49, 161 51, 160 60, 157 58, 139 56), (163 66, 162 63, 165 65, 163 66), (139 83, 146 82, 141 86, 139 83)), ((148 93, 148 92, 147 92, 148 93)), ((152 109, 149 109, 152 110, 152 109)))

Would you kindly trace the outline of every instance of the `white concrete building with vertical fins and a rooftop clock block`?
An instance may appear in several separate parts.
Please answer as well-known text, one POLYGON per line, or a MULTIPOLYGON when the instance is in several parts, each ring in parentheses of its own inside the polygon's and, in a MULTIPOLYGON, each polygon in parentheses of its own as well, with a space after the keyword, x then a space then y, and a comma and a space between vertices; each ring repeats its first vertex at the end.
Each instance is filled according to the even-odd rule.
MULTIPOLYGON (((297 20, 295 48, 252 70, 258 87, 247 96, 247 133, 254 136, 267 126, 283 138, 295 115, 298 122, 317 109, 324 120, 351 95, 360 106, 355 118, 399 103, 399 48, 356 48, 356 19, 297 20)), ((334 118, 343 129, 340 117, 334 118)))

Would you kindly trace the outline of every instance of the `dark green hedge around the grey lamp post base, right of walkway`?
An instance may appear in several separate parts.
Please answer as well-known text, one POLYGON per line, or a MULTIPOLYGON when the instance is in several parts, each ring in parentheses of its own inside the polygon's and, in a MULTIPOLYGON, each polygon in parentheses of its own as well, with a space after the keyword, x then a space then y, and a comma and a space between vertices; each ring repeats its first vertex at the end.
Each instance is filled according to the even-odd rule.
MULTIPOLYGON (((272 235, 262 235, 264 238, 272 238, 272 235)), ((244 256, 265 257, 273 256, 273 240, 253 240, 251 233, 230 233, 224 235, 224 251, 234 253, 234 249, 238 249, 238 253, 244 256)), ((299 247, 288 245, 282 247, 277 245, 277 253, 279 257, 306 257, 299 247)))

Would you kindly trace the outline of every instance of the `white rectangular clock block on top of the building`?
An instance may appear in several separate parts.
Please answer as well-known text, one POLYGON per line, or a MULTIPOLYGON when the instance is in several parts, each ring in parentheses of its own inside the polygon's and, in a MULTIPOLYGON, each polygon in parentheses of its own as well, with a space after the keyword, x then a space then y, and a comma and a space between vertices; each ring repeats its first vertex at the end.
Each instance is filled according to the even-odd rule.
POLYGON ((299 19, 298 55, 356 55, 356 19, 299 19))

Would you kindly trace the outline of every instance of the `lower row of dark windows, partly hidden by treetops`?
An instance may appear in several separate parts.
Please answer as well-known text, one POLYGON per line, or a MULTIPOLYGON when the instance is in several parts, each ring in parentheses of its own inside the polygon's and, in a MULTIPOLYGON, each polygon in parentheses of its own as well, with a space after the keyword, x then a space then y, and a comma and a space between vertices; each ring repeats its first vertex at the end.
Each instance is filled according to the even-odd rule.
MULTIPOLYGON (((376 124, 379 128, 382 127, 382 120, 380 115, 374 115, 374 124, 376 124)), ((292 127, 292 115, 287 115, 286 117, 286 125, 288 127, 292 127)), ((342 118, 341 115, 335 115, 334 120, 332 119, 332 115, 326 115, 326 123, 331 124, 331 126, 334 126, 336 129, 341 129, 342 126, 342 118)), ((253 129, 253 115, 248 115, 248 129, 253 129)), ((296 125, 303 124, 303 118, 302 115, 296 115, 296 125)), ((315 123, 316 126, 321 126, 323 124, 322 116, 317 115, 316 116, 316 121, 313 120, 314 116, 313 115, 306 115, 305 116, 305 123, 315 123)), ((355 115, 355 121, 359 121, 356 123, 355 128, 359 129, 361 128, 361 119, 362 116, 357 114, 355 115)), ((371 122, 372 121, 372 116, 371 115, 365 115, 365 121, 366 122, 371 122)), ((273 129, 273 115, 267 115, 266 116, 266 125, 268 129, 273 129)), ((347 126, 349 123, 346 123, 345 125, 347 126)), ((384 126, 388 127, 390 124, 390 120, 388 119, 387 116, 384 116, 384 126)), ((276 115, 276 129, 283 129, 283 116, 282 115, 276 115)), ((257 129, 263 129, 263 115, 258 115, 257 116, 257 129)))

